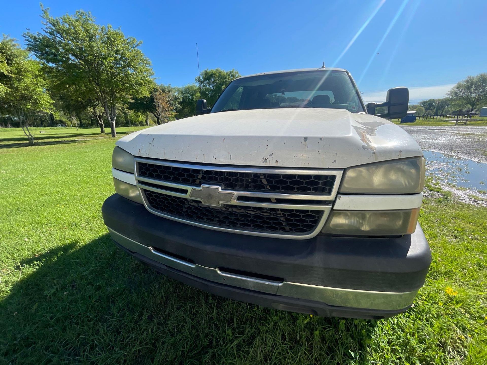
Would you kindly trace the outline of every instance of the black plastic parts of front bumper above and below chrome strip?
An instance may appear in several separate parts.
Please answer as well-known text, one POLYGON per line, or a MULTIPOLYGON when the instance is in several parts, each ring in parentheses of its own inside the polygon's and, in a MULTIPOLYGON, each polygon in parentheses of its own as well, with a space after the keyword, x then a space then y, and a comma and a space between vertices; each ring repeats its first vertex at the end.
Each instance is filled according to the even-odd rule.
MULTIPOLYGON (((284 240, 218 232, 171 221, 117 194, 104 202, 102 212, 110 229, 140 244, 208 268, 244 270, 293 283, 373 292, 412 292, 424 284, 431 263, 430 248, 419 225, 413 235, 398 238, 316 236, 284 240)), ((390 317, 408 308, 370 310, 328 306, 319 301, 215 283, 140 254, 131 255, 188 285, 266 307, 360 318, 390 317)))

